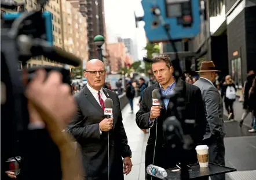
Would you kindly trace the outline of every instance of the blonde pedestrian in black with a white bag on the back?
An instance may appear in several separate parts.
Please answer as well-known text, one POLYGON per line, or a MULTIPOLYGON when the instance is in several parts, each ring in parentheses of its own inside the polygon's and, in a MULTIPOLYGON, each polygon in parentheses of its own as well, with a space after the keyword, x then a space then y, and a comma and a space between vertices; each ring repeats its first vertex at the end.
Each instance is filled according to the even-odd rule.
POLYGON ((225 108, 228 112, 228 120, 234 119, 233 104, 236 100, 236 86, 230 75, 225 77, 221 97, 224 97, 225 108))

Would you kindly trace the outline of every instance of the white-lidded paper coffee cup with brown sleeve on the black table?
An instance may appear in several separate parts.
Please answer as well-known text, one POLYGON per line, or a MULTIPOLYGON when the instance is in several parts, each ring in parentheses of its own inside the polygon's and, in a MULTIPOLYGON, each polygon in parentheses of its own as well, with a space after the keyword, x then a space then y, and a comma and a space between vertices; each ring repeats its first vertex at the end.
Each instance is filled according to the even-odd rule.
POLYGON ((207 145, 198 145, 196 147, 196 153, 198 154, 198 162, 200 167, 209 166, 209 147, 207 145))

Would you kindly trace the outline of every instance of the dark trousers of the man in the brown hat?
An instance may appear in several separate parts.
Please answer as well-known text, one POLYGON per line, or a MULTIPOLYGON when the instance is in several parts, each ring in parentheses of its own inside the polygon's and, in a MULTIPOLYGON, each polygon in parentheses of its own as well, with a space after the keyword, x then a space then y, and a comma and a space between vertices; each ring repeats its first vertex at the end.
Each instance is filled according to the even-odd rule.
MULTIPOLYGON (((209 162, 225 166, 224 138, 210 138, 205 144, 209 147, 209 162)), ((211 180, 225 180, 225 174, 214 175, 211 180)))

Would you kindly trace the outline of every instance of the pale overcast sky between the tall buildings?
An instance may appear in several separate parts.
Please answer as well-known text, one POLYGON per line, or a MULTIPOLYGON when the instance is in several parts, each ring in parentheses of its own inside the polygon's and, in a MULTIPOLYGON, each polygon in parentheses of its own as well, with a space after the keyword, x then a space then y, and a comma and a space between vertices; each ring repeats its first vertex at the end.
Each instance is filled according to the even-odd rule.
POLYGON ((145 51, 142 49, 146 45, 144 32, 144 22, 139 23, 139 28, 135 27, 136 16, 142 16, 143 9, 140 0, 104 0, 105 23, 108 35, 108 43, 115 43, 116 37, 131 38, 137 41, 138 58, 142 59, 145 51))

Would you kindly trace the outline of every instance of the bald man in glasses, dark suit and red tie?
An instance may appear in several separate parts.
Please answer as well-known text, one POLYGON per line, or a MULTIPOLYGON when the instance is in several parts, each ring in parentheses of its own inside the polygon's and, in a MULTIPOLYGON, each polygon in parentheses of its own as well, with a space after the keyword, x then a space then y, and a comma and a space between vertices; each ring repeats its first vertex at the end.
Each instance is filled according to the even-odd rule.
POLYGON ((122 123, 118 95, 103 88, 106 77, 104 63, 92 59, 86 63, 87 85, 75 95, 78 110, 68 125, 68 132, 81 145, 86 180, 122 180, 131 171, 131 150, 122 123), (104 117, 104 100, 113 100, 112 118, 104 117), (123 158, 123 162, 122 162, 123 158))

